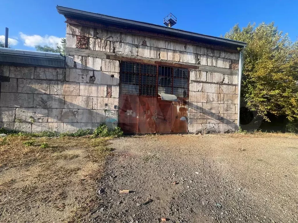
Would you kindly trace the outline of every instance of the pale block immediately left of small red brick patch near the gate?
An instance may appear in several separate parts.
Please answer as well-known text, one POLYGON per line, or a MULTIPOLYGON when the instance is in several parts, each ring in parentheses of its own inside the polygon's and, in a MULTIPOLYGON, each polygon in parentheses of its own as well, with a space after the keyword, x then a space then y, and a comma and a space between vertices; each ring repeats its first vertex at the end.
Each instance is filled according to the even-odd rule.
POLYGON ((81 96, 105 97, 107 86, 105 84, 80 83, 81 96))

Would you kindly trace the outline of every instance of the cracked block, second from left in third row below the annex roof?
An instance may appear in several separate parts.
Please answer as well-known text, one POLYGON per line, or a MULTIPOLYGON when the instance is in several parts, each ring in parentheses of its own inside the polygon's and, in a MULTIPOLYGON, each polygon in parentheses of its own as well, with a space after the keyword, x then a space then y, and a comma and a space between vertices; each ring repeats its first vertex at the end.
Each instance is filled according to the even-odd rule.
POLYGON ((62 109, 64 107, 63 95, 34 95, 33 107, 62 109))

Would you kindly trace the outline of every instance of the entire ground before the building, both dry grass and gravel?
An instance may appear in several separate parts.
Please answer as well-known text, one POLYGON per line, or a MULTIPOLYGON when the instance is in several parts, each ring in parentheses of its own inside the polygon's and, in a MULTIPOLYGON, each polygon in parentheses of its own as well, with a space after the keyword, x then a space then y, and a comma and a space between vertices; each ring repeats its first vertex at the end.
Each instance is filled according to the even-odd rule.
POLYGON ((298 222, 295 135, 24 140, 1 142, 0 222, 298 222))

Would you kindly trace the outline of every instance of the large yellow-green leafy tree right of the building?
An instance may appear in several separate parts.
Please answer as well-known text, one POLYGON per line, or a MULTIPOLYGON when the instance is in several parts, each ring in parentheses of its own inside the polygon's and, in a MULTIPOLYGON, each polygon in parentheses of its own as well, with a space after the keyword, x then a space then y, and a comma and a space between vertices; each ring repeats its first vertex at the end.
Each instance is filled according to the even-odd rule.
MULTIPOLYGON (((250 110, 268 120, 270 112, 298 117, 298 41, 278 31, 274 23, 235 25, 225 38, 247 43, 244 54, 241 97, 250 110)), ((268 120, 270 121, 270 120, 268 120)))

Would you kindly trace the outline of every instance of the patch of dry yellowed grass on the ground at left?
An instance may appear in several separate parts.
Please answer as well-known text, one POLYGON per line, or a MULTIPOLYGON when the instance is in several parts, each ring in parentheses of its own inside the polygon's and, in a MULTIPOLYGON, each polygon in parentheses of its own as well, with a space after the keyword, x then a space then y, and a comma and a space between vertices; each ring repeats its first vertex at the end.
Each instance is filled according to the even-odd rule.
POLYGON ((0 222, 81 222, 99 202, 96 183, 110 154, 107 140, 1 138, 0 222))

